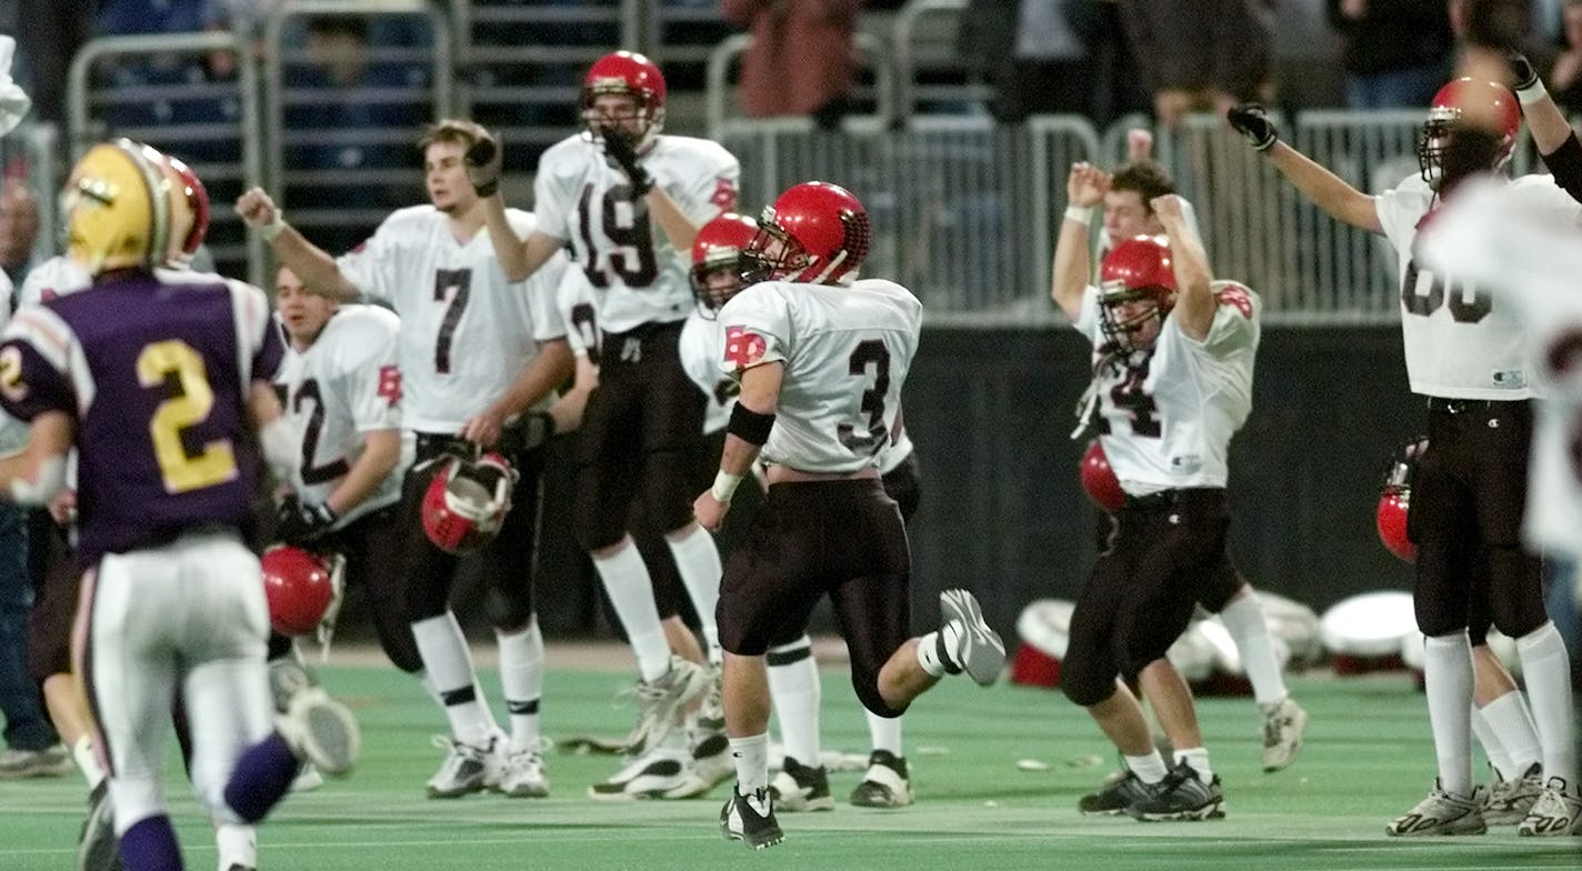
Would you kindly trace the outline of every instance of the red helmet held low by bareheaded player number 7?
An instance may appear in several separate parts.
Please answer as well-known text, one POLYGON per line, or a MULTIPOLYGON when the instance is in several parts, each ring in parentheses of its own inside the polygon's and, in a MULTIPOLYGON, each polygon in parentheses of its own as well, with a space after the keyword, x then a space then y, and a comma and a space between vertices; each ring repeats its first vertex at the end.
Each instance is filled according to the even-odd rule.
POLYGON ((500 533, 513 484, 516 471, 498 454, 446 457, 422 496, 422 531, 446 553, 478 550, 500 533))

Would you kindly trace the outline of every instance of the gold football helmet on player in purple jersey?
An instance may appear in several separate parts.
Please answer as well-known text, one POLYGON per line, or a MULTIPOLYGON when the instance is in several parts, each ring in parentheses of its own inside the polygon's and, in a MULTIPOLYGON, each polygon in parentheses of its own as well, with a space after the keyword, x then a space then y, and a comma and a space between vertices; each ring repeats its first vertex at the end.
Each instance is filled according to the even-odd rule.
POLYGON ((71 169, 60 210, 66 253, 89 275, 165 262, 171 237, 165 155, 131 139, 93 145, 71 169))

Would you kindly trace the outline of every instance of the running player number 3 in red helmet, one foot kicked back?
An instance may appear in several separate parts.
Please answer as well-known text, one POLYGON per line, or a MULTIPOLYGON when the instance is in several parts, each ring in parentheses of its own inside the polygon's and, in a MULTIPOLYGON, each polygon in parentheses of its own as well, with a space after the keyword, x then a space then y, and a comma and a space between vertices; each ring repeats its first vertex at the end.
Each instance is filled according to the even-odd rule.
POLYGON ((725 719, 737 782, 726 838, 780 843, 769 792, 770 647, 800 632, 829 596, 851 650, 851 683, 884 718, 946 673, 990 684, 1005 645, 967 590, 940 594, 941 628, 910 639, 911 556, 878 457, 900 432, 900 392, 922 305, 886 280, 859 280, 872 229, 851 191, 807 182, 782 193, 742 258, 750 278, 718 318, 718 367, 742 389, 713 485, 693 503, 717 530, 755 462, 769 493, 720 586, 725 719), (756 283, 755 283, 756 281, 756 283))

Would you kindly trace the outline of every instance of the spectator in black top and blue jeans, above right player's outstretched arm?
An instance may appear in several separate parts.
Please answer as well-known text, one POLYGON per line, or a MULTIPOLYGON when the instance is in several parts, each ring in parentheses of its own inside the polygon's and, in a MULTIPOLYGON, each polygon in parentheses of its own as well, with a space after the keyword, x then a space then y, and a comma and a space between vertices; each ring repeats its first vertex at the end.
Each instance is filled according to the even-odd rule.
POLYGON ((1397 109, 1427 106, 1449 73, 1455 43, 1440 0, 1327 0, 1329 24, 1340 32, 1346 106, 1397 109))

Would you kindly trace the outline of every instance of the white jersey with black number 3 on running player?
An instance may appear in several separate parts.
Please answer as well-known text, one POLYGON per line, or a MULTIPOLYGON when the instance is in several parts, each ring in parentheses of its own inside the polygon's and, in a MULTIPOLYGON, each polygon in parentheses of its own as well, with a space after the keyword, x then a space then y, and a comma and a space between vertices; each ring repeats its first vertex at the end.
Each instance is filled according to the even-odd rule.
POLYGON ((731 297, 717 329, 721 371, 785 364, 764 462, 810 473, 878 465, 922 330, 911 291, 880 278, 766 281, 731 297))

